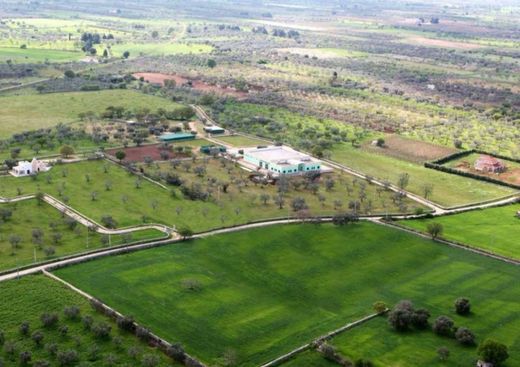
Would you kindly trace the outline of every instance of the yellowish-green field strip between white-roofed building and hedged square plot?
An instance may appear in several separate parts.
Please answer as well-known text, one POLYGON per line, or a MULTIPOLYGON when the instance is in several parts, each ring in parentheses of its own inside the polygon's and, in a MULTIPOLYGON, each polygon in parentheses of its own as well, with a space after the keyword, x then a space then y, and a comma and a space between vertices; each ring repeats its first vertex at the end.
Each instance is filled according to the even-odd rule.
POLYGON ((386 179, 393 184, 398 182, 399 175, 408 173, 410 179, 407 190, 417 195, 423 195, 424 185, 431 184, 433 193, 430 199, 447 207, 496 199, 515 192, 514 189, 507 187, 435 171, 420 164, 382 154, 369 153, 348 144, 336 145, 332 149, 331 158, 365 174, 386 179))

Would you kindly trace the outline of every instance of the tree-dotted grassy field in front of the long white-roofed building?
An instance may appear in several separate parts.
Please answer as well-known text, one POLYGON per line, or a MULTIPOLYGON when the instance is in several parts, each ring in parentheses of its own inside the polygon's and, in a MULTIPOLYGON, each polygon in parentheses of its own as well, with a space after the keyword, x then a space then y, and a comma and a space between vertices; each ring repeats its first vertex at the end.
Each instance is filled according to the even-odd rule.
POLYGON ((306 216, 333 215, 350 211, 351 201, 358 202, 358 214, 385 214, 401 209, 414 212, 420 207, 406 198, 394 199, 391 193, 377 191, 376 186, 362 180, 337 175, 333 177, 334 187, 329 190, 325 182, 316 187, 320 195, 318 192, 313 194, 311 188, 304 189, 303 182, 299 182, 297 189, 288 186, 280 209, 280 203, 275 199, 278 196, 275 186, 263 187, 249 182, 248 173, 234 167, 230 161, 221 163, 208 158, 179 164, 176 169, 170 163, 159 164, 157 169, 157 165, 152 163, 144 165, 143 170, 160 179, 158 174, 162 167, 164 173, 179 175, 181 180, 185 180, 189 193, 210 195, 207 200, 189 200, 185 198, 186 193, 181 193, 182 188, 170 186, 170 190, 165 189, 107 161, 57 165, 36 179, 0 177, 0 196, 15 197, 40 190, 98 223, 108 215, 115 220, 117 227, 162 223, 177 228, 189 226, 194 231, 273 217, 292 217, 299 215, 300 209, 306 216), (201 176, 197 167, 203 167, 206 173, 201 176), (224 192, 224 185, 227 192, 224 192), (304 199, 307 208, 293 207, 293 200, 297 197, 304 199))

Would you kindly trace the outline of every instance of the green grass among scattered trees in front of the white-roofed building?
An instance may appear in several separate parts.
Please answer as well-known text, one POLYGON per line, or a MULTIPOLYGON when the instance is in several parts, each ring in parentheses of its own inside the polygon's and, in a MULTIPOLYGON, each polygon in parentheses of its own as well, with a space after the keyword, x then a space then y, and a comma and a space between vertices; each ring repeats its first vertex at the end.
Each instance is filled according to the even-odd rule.
MULTIPOLYGON (((188 180, 207 185, 208 177, 199 178, 193 174, 193 167, 197 164, 192 165, 189 173, 183 172, 181 167, 177 168, 177 171, 183 177, 186 176, 188 180)), ((248 221, 294 216, 295 212, 290 209, 290 203, 296 196, 306 198, 311 214, 332 215, 336 212, 333 208, 333 200, 341 199, 343 210, 347 210, 348 201, 356 199, 356 192, 359 190, 358 183, 358 188, 349 198, 346 188, 340 186, 338 179, 337 188, 330 192, 321 190, 328 197, 324 206, 318 201, 317 195, 300 190, 300 192, 288 194, 284 209, 279 209, 272 199, 276 196, 274 186, 269 185, 265 189, 255 186, 248 181, 246 171, 233 168, 230 162, 228 165, 233 169, 231 176, 224 169, 218 168, 219 163, 216 161, 212 161, 211 165, 213 168, 210 172, 213 177, 222 178, 228 182, 231 182, 231 177, 243 179, 248 186, 243 187, 240 192, 236 185, 233 187, 230 185, 228 193, 220 194, 214 188, 213 196, 216 200, 192 201, 184 199, 178 189, 175 189, 177 197, 172 197, 169 190, 147 180, 141 180, 140 187, 137 188, 137 176, 111 162, 83 161, 54 166, 48 173, 40 174, 36 180, 30 177, 1 177, 0 196, 14 197, 18 195, 18 189, 21 194, 41 190, 58 200, 66 201, 65 199, 68 198, 68 205, 96 222, 99 222, 105 215, 111 215, 117 221, 118 227, 128 227, 143 224, 144 216, 146 223, 176 225, 177 228, 189 226, 195 231, 204 231, 243 224, 248 221), (106 173, 104 167, 107 167, 106 173), (64 173, 66 177, 63 177, 64 173), (89 182, 87 182, 87 175, 90 179, 89 182), (47 176, 51 178, 50 183, 47 181, 47 176), (107 184, 111 185, 110 190, 106 189, 107 184), (95 200, 92 200, 93 193, 95 193, 95 200), (271 197, 267 205, 263 205, 260 201, 259 195, 262 193, 268 193, 271 197)), ((154 165, 152 164, 151 167, 153 168, 154 165)), ((351 180, 351 177, 345 176, 345 180, 347 179, 351 180)), ((381 193, 381 198, 379 198, 375 190, 374 185, 367 185, 367 198, 372 200, 373 211, 377 210, 380 213, 384 213, 386 210, 388 212, 397 211, 390 199, 390 193, 381 193), (383 199, 387 209, 382 208, 383 199)), ((416 206, 414 203, 407 201, 408 210, 413 211, 414 206, 416 206)))

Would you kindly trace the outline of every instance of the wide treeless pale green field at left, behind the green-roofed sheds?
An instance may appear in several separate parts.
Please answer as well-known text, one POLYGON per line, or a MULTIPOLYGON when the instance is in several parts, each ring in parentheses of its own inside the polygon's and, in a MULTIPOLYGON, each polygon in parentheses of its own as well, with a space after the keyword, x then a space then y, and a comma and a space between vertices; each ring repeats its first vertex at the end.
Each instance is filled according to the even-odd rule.
POLYGON ((131 111, 141 108, 173 109, 179 105, 167 99, 132 90, 71 92, 0 97, 0 138, 26 130, 51 127, 60 122, 78 120, 81 112, 100 112, 108 106, 131 111))

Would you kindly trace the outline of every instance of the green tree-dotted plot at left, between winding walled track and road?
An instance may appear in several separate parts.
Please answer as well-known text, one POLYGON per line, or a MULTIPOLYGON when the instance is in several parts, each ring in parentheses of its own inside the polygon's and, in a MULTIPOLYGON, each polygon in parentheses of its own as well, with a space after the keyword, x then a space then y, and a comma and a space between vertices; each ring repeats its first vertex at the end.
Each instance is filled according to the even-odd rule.
POLYGON ((111 235, 108 242, 106 236, 93 232, 87 234, 87 228, 82 225, 78 224, 71 229, 60 212, 46 203, 38 205, 36 200, 24 200, 1 204, 0 210, 4 209, 11 210, 12 217, 0 224, 0 270, 108 248, 109 245, 118 246, 164 237, 160 231, 145 229, 128 235, 111 235), (35 229, 43 232, 41 242, 33 240, 32 232, 35 229), (54 238, 56 234, 61 235, 58 242, 54 238), (20 237, 16 248, 11 244, 12 236, 20 237), (49 248, 54 249, 54 254, 46 253, 49 248))

